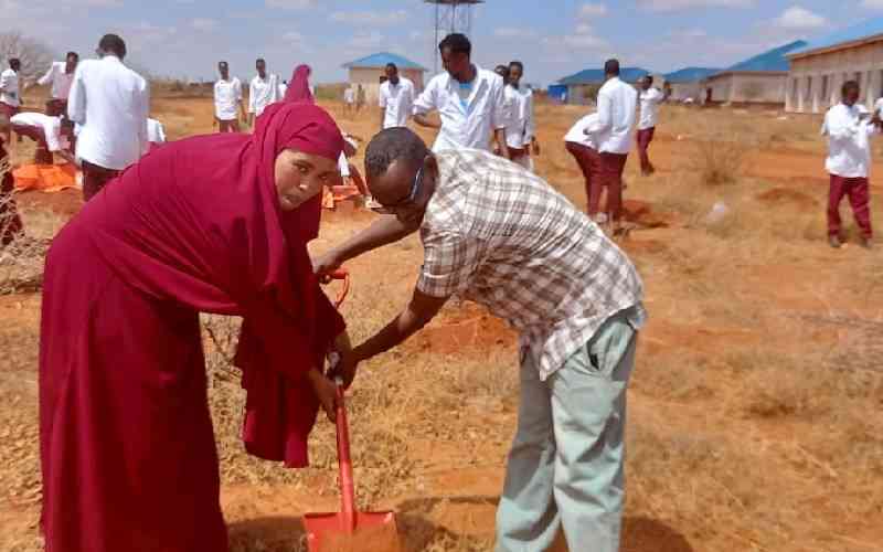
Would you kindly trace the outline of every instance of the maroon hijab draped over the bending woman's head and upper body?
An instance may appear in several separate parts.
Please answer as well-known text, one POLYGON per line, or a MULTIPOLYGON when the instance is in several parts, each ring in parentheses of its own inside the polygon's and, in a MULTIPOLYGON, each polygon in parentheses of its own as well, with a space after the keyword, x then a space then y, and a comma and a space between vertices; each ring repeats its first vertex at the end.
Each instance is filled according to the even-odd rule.
POLYGON ((275 161, 288 148, 337 159, 343 138, 317 106, 274 104, 251 136, 198 136, 148 153, 72 224, 87 225, 107 265, 149 297, 244 318, 246 448, 302 466, 318 407, 304 374, 344 325, 307 252, 318 195, 292 212, 279 206, 275 161))

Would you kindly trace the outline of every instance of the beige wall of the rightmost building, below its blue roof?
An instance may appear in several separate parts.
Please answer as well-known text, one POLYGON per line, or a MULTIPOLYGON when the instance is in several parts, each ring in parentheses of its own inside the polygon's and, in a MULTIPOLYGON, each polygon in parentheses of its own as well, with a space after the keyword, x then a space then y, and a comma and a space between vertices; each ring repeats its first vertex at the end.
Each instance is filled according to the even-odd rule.
POLYGON ((872 108, 883 96, 883 41, 792 59, 785 108, 823 113, 840 102, 840 87, 848 79, 859 81, 861 100, 872 108))

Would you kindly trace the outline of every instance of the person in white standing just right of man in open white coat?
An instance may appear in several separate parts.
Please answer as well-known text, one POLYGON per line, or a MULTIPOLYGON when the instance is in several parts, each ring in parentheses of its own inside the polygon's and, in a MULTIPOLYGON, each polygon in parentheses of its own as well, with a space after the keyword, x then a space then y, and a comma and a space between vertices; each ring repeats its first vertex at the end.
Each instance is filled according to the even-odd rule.
POLYGON ((524 75, 524 64, 512 62, 507 71, 508 78, 504 88, 506 110, 509 120, 506 126, 506 144, 513 162, 533 172, 533 155, 540 153, 540 144, 535 138, 533 123, 533 91, 521 85, 524 75))

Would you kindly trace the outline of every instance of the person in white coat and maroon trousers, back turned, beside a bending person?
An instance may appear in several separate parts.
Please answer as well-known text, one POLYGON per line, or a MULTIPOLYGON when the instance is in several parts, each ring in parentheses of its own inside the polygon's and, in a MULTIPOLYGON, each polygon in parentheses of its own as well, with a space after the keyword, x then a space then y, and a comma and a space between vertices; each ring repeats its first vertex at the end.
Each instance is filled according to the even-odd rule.
MULTIPOLYGON (((598 144, 602 185, 607 187, 607 222, 614 234, 618 234, 623 216, 623 170, 631 149, 638 92, 619 79, 617 60, 604 64, 604 74, 606 82, 598 91, 598 120, 584 132, 598 144)), ((592 198, 588 215, 597 220, 598 203, 593 203, 592 198)))

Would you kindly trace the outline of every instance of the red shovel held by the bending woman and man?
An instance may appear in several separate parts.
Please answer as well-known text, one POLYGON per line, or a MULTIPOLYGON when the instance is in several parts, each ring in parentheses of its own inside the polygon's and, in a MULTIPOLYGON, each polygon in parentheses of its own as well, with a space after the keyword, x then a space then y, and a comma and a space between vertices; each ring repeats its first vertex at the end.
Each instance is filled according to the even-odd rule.
MULTIPOLYGON (((337 301, 340 307, 349 290, 349 274, 341 269, 331 274, 331 278, 343 279, 343 290, 337 301)), ((360 512, 355 509, 355 484, 352 476, 343 381, 338 378, 336 383, 340 512, 304 516, 307 548, 309 552, 398 552, 398 530, 393 512, 360 512)))

